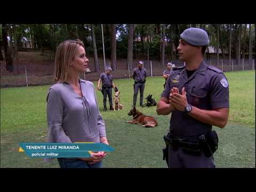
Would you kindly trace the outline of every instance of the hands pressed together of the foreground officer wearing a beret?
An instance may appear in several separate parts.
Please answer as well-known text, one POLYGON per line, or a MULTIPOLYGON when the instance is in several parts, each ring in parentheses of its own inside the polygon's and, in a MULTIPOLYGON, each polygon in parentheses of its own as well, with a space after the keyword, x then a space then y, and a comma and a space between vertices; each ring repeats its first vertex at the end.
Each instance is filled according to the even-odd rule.
POLYGON ((187 92, 185 91, 185 87, 182 88, 182 94, 177 93, 179 91, 176 87, 173 88, 173 92, 170 94, 170 103, 180 111, 184 111, 185 107, 188 105, 187 101, 187 92))

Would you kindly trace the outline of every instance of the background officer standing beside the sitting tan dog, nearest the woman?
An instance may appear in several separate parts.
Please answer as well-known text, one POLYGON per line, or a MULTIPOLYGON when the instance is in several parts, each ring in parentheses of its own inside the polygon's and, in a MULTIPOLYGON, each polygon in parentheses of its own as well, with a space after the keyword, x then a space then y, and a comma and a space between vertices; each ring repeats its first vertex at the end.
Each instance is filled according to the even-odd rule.
POLYGON ((110 105, 110 110, 114 110, 113 102, 112 102, 112 87, 116 89, 116 86, 113 82, 113 76, 111 75, 112 69, 108 67, 105 73, 100 74, 100 78, 98 81, 98 90, 103 94, 103 107, 104 111, 107 110, 107 95, 110 105), (100 84, 102 83, 102 89, 100 88, 100 84))

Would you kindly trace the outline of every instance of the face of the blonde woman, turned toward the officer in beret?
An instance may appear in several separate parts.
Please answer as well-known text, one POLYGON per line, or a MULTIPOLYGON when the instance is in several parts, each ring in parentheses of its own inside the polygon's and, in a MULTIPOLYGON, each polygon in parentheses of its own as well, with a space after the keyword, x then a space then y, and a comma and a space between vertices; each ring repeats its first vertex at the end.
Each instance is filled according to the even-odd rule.
POLYGON ((77 54, 74 59, 71 61, 71 68, 77 71, 78 73, 84 73, 88 67, 89 59, 85 57, 84 47, 79 46, 77 54))

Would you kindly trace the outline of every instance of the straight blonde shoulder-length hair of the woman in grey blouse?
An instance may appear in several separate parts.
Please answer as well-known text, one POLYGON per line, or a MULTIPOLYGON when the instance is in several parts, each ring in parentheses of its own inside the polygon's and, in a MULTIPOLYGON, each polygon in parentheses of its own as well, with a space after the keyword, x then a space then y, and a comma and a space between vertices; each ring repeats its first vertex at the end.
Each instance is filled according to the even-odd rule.
POLYGON ((77 54, 79 46, 84 47, 84 43, 80 39, 68 39, 59 44, 55 55, 55 82, 62 83, 66 81, 68 77, 69 63, 77 54))

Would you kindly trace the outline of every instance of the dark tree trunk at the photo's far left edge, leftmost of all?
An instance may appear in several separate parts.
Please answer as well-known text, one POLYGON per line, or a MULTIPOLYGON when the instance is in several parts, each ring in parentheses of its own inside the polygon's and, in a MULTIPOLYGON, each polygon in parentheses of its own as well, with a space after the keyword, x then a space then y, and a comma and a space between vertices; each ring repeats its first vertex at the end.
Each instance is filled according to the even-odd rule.
POLYGON ((5 54, 5 62, 6 62, 6 70, 12 72, 13 71, 13 60, 12 53, 10 52, 7 40, 7 25, 3 24, 3 43, 4 43, 4 54, 5 54))

